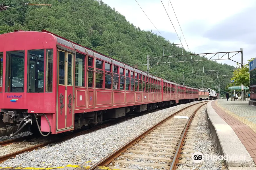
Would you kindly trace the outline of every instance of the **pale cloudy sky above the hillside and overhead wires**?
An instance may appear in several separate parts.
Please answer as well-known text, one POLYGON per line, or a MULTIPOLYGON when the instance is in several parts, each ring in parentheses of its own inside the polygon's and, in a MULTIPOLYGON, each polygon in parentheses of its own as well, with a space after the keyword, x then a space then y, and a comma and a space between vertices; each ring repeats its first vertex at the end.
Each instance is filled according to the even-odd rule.
MULTIPOLYGON (((255 57, 256 52, 256 1, 255 0, 171 0, 179 24, 168 0, 103 0, 111 8, 123 14, 127 21, 143 30, 158 33, 141 8, 170 42, 180 41, 164 10, 168 11, 170 19, 180 37, 180 28, 187 41, 181 35, 181 42, 191 52, 229 52, 240 51, 243 48, 243 63, 255 57)), ((161 46, 161 44, 160 44, 161 46)), ((159 54, 160 56, 162 54, 159 54)), ((233 54, 234 55, 234 54, 233 54)), ((224 58, 224 57, 223 57, 224 58)), ((240 62, 240 54, 232 58, 240 62)), ((230 60, 218 62, 236 65, 230 60)))

